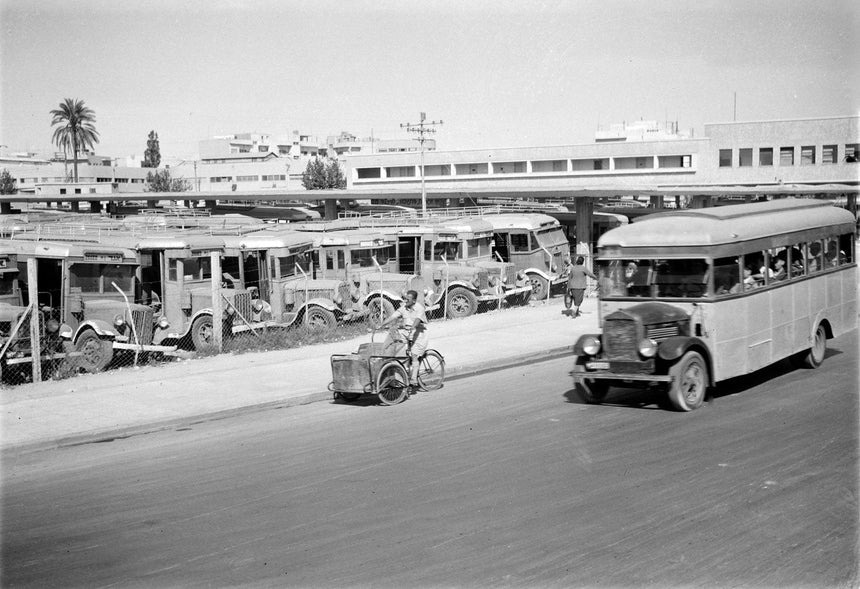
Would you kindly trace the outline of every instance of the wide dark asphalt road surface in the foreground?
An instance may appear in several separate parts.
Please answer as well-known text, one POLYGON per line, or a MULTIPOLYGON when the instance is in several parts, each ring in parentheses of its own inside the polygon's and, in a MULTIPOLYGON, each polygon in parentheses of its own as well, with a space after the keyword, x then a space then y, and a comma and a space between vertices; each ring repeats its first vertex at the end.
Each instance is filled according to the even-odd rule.
POLYGON ((4 456, 4 587, 854 587, 857 336, 676 413, 571 361, 4 456))

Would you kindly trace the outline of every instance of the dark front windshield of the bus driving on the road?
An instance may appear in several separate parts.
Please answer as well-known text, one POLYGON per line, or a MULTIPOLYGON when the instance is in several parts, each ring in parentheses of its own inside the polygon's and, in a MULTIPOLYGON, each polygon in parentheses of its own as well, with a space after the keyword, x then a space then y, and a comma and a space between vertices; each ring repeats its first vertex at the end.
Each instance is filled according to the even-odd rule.
POLYGON ((598 272, 604 298, 700 298, 711 266, 700 258, 598 260, 598 272))

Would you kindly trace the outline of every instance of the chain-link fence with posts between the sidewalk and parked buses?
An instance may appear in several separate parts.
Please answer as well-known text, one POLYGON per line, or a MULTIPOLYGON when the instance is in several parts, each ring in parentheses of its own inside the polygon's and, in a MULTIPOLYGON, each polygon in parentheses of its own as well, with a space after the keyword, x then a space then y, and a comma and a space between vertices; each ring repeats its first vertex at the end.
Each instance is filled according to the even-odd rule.
MULTIPOLYGON (((213 254, 211 260, 211 275, 220 276, 218 256, 213 254)), ((382 298, 373 304, 365 298, 353 308, 345 283, 328 293, 311 292, 305 286, 292 293, 289 311, 273 308, 278 305, 260 297, 259 288, 232 287, 226 281, 205 281, 204 288, 183 292, 169 292, 162 284, 159 294, 146 280, 126 280, 121 265, 112 263, 97 265, 99 270, 85 277, 88 282, 78 277, 77 286, 56 290, 56 285, 40 282, 49 273, 38 263, 27 260, 19 267, 23 273, 26 266, 27 279, 20 277, 13 287, 7 284, 12 281, 4 281, 7 286, 0 292, 3 387, 177 358, 351 339, 374 329, 399 304, 381 304, 382 298)), ((429 298, 422 302, 431 321, 452 317, 452 309, 460 317, 464 308, 468 315, 503 313, 530 302, 528 292, 506 297, 501 288, 491 288, 475 302, 475 295, 465 288, 442 286, 443 296, 434 299, 424 293, 429 298)))

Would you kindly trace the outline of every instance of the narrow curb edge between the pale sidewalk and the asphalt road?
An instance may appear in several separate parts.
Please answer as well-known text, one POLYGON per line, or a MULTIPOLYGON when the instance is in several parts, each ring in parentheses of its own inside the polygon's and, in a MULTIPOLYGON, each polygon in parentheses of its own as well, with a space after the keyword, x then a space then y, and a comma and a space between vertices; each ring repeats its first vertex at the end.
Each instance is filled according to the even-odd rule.
MULTIPOLYGON (((542 352, 531 352, 521 354, 509 358, 498 359, 490 362, 481 362, 480 365, 462 366, 450 370, 446 374, 446 380, 459 380, 472 376, 479 376, 495 370, 506 368, 516 368, 527 364, 535 364, 546 362, 573 354, 573 346, 561 346, 558 348, 550 348, 542 352)), ((185 417, 176 417, 169 420, 155 421, 152 423, 133 425, 128 427, 105 429, 97 432, 87 432, 75 434, 54 440, 43 440, 37 442, 26 442, 23 444, 9 445, 2 448, 2 452, 14 452, 17 454, 28 454, 32 452, 41 452, 43 450, 55 450, 59 448, 69 448, 73 446, 83 446, 85 444, 99 444, 113 442, 114 440, 122 440, 132 436, 140 436, 145 434, 157 433, 161 431, 177 429, 197 425, 209 421, 218 421, 240 415, 247 415, 259 411, 269 409, 284 409, 289 407, 298 407, 300 405, 309 405, 310 403, 318 403, 320 401, 331 401, 332 393, 330 391, 318 393, 306 393, 285 399, 277 399, 274 401, 265 401, 255 403, 253 405, 243 405, 232 409, 223 409, 210 413, 201 413, 197 415, 189 415, 185 417)))

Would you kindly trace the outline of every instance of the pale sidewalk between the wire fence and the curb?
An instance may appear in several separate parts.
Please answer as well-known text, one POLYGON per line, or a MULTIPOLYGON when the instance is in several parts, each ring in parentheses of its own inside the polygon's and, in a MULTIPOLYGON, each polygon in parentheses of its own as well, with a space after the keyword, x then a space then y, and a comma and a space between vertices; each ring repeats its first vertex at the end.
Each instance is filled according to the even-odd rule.
MULTIPOLYGON (((572 354, 597 329, 597 299, 583 315, 561 313, 562 298, 430 324, 430 347, 445 357, 446 382, 486 370, 572 354)), ((262 353, 221 354, 86 374, 0 391, 0 449, 26 452, 171 429, 266 407, 330 401, 329 357, 352 340, 262 353)), ((396 410, 396 408, 380 410, 396 410)))

